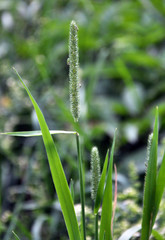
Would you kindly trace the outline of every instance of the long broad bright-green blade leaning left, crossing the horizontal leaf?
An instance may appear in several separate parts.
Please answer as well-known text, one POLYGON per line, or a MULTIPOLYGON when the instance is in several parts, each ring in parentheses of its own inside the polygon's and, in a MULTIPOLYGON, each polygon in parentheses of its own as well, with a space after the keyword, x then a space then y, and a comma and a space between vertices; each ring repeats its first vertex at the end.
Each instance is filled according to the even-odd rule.
MULTIPOLYGON (((14 69, 15 70, 15 69, 14 69)), ((51 137, 51 134, 49 132, 48 126, 46 124, 45 118, 31 95, 29 89, 23 82, 22 78, 18 74, 18 72, 15 70, 17 76, 19 77, 19 80, 21 81, 22 85, 24 86, 26 92, 29 95, 29 98, 34 106, 34 109, 37 114, 37 118, 40 124, 40 128, 42 131, 42 137, 44 141, 44 145, 46 148, 48 161, 50 165, 50 170, 53 178, 53 182, 56 188, 56 192, 61 204, 62 213, 64 216, 65 224, 68 230, 69 239, 70 240, 80 240, 80 232, 78 228, 78 222, 74 210, 74 205, 71 197, 71 193, 69 190, 69 186, 65 177, 65 173, 60 161, 60 158, 58 156, 55 144, 53 142, 53 139, 51 137)))

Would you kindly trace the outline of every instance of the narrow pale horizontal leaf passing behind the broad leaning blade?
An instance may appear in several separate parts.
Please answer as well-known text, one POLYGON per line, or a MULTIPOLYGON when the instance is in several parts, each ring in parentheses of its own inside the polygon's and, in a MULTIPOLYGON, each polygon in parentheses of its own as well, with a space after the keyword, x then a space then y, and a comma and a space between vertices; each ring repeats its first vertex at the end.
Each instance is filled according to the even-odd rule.
MULTIPOLYGON (((51 135, 54 134, 76 134, 76 132, 73 131, 63 131, 63 130, 50 130, 49 131, 51 135)), ((42 131, 23 131, 23 132, 5 132, 0 133, 0 135, 9 135, 13 137, 37 137, 42 136, 42 131)))

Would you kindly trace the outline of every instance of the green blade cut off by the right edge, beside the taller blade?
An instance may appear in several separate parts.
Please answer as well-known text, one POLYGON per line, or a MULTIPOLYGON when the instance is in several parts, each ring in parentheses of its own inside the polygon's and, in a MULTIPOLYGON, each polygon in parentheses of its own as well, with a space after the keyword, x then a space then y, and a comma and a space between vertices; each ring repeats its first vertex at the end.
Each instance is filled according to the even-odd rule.
POLYGON ((159 210, 159 205, 163 196, 164 188, 165 188, 165 153, 163 155, 163 160, 159 169, 158 177, 156 180, 156 198, 155 198, 155 207, 153 213, 153 221, 152 226, 154 225, 156 215, 159 210))

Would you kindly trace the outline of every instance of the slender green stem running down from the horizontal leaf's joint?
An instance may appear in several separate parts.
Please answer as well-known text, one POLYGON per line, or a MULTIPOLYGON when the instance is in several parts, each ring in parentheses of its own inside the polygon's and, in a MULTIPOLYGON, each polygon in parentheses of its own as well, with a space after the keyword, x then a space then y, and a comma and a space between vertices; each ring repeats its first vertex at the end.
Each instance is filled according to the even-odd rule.
POLYGON ((85 207, 84 207, 85 193, 84 193, 83 172, 82 172, 82 155, 81 155, 80 137, 78 133, 76 134, 76 142, 77 142, 78 169, 79 169, 79 180, 80 180, 80 199, 81 199, 83 239, 86 240, 85 207))

